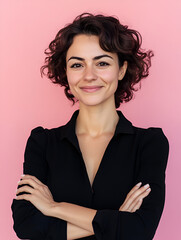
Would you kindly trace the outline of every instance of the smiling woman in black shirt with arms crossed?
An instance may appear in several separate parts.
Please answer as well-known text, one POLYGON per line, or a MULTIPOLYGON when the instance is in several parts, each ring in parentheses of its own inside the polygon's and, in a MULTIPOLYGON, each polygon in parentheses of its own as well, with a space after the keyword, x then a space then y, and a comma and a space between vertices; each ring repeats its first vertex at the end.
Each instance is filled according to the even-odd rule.
POLYGON ((148 76, 137 31, 82 14, 46 51, 48 77, 79 102, 61 127, 32 130, 12 211, 21 239, 150 240, 165 199, 168 140, 138 128, 120 103, 148 76))

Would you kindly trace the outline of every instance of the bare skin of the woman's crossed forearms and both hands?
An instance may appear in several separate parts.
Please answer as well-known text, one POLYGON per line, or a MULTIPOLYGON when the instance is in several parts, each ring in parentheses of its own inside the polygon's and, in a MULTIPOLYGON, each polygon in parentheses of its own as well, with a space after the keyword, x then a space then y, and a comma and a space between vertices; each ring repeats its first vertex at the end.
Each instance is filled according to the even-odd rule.
MULTIPOLYGON (((66 202, 55 202, 49 188, 35 176, 22 175, 18 185, 24 184, 30 186, 18 188, 16 200, 29 201, 44 215, 67 221, 68 240, 94 235, 92 220, 97 210, 66 202), (22 192, 27 194, 18 195, 22 192)), ((150 191, 148 184, 141 186, 141 183, 138 183, 127 194, 119 211, 135 212, 140 208, 143 199, 148 196, 150 191)))

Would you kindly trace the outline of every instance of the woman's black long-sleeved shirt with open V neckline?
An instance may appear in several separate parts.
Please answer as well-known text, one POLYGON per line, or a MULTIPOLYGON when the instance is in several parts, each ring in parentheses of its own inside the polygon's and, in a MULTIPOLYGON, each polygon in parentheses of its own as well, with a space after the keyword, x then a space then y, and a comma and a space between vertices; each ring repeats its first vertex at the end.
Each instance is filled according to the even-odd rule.
MULTIPOLYGON (((79 110, 61 127, 31 131, 27 141, 24 174, 46 184, 55 201, 98 210, 95 235, 86 240, 151 240, 165 200, 165 169, 169 143, 161 128, 138 128, 117 111, 119 121, 91 187, 75 134, 79 110), (121 212, 131 188, 142 182, 151 192, 134 213, 121 212)), ((12 203, 14 230, 21 239, 66 240, 67 222, 43 215, 30 202, 12 203)))

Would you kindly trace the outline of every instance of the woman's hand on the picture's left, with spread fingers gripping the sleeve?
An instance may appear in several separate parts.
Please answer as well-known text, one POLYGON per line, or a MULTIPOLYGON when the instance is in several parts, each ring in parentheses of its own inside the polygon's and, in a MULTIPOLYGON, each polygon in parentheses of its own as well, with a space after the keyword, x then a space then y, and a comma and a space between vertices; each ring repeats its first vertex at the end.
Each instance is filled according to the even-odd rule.
POLYGON ((53 196, 49 188, 38 180, 35 176, 24 175, 18 182, 18 185, 29 184, 30 186, 22 186, 17 189, 16 194, 26 192, 28 194, 22 194, 16 196, 17 200, 27 200, 31 202, 38 210, 44 215, 51 216, 51 209, 55 206, 56 202, 53 200, 53 196))

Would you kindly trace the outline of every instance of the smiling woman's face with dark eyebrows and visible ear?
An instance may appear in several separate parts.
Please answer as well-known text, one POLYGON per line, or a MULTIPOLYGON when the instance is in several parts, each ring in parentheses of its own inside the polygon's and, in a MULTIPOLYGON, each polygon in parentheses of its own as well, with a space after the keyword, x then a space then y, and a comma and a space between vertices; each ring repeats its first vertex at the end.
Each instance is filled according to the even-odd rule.
POLYGON ((94 35, 77 35, 67 51, 66 73, 71 93, 79 104, 98 105, 112 101, 127 68, 119 68, 116 53, 106 52, 94 35))

